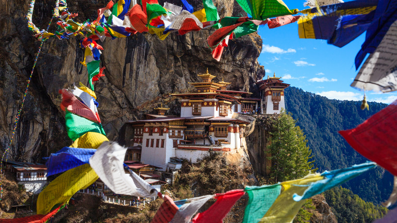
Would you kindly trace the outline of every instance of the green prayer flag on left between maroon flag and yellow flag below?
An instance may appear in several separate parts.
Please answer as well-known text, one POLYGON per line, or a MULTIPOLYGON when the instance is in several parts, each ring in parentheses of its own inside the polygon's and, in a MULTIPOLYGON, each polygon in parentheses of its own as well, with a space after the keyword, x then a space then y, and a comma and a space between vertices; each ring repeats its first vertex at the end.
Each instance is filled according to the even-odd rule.
POLYGON ((65 120, 68 136, 73 141, 77 140, 77 138, 87 132, 97 132, 106 135, 101 125, 80 116, 74 115, 68 110, 66 110, 65 120))

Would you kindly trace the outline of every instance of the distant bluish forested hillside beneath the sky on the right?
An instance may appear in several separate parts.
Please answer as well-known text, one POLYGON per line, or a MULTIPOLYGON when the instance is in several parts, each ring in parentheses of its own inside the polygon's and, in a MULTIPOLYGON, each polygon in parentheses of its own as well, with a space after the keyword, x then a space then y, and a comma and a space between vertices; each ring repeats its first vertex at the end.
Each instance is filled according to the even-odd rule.
MULTIPOLYGON (((369 102, 370 110, 361 110, 361 101, 330 100, 295 87, 287 88, 285 96, 287 112, 292 113, 306 135, 319 171, 345 168, 367 160, 354 151, 338 131, 356 127, 387 104, 369 102)), ((342 186, 365 201, 379 204, 391 193, 392 175, 377 168, 342 186)))

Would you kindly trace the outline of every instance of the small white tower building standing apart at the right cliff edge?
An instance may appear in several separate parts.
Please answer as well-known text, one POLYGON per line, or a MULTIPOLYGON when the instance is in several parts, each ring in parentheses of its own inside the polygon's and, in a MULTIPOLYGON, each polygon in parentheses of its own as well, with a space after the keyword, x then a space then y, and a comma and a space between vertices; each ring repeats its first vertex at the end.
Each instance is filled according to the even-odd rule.
POLYGON ((283 83, 281 77, 267 76, 267 79, 257 82, 261 91, 261 110, 262 114, 280 114, 281 108, 286 108, 284 100, 284 89, 290 86, 283 83))

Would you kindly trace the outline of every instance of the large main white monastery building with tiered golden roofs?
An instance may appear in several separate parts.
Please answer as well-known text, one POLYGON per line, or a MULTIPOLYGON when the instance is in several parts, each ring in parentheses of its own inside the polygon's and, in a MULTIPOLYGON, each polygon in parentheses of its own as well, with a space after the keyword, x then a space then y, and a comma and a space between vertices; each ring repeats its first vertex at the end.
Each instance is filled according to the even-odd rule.
POLYGON ((158 166, 160 171, 176 169, 172 157, 191 162, 210 151, 234 152, 241 146, 243 129, 248 122, 233 119, 234 113, 254 113, 261 99, 250 92, 228 91, 225 81, 214 82, 208 73, 198 75, 202 82, 190 83, 195 92, 170 94, 181 98, 181 117, 167 117, 167 108, 154 119, 127 123, 127 146, 141 147, 140 162, 158 166), (128 145, 130 144, 130 145, 128 145))

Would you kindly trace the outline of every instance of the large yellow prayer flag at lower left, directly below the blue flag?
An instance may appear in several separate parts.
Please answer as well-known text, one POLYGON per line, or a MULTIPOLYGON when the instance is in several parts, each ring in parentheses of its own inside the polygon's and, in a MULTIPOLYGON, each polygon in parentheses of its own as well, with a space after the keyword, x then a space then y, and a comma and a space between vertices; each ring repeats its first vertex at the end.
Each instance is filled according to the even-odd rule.
POLYGON ((69 201, 79 189, 90 186, 97 179, 98 175, 88 163, 66 171, 41 191, 37 214, 46 214, 54 205, 69 201))

